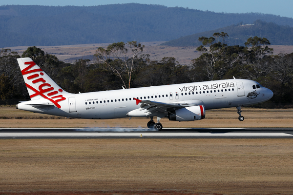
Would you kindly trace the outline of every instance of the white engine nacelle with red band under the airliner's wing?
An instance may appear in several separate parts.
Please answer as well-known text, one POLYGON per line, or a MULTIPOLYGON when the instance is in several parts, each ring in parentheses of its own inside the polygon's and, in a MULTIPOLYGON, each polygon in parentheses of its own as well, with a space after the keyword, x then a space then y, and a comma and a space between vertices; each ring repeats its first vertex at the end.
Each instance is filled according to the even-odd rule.
POLYGON ((179 110, 171 111, 168 113, 169 120, 176 121, 193 121, 200 120, 206 117, 205 106, 190 106, 181 108, 179 110))

